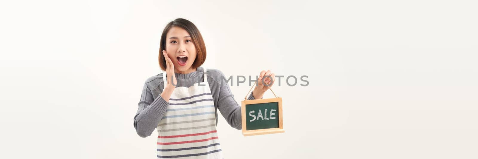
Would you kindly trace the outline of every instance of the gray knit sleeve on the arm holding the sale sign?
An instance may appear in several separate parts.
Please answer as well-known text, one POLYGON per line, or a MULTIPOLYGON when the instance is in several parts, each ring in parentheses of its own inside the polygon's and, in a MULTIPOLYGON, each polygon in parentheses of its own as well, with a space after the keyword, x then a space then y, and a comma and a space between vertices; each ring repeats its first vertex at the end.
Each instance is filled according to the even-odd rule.
MULTIPOLYGON (((211 69, 211 71, 213 71, 211 69)), ((234 99, 234 95, 231 92, 230 86, 228 85, 228 82, 226 81, 226 78, 222 72, 217 71, 217 73, 220 74, 219 78, 215 78, 214 80, 217 80, 215 85, 212 87, 218 86, 218 89, 212 88, 215 91, 218 92, 213 92, 213 96, 217 97, 217 108, 221 112, 221 115, 226 119, 228 124, 231 127, 234 127, 238 130, 242 129, 242 117, 241 117, 241 107, 239 103, 234 99)), ((213 75, 214 76, 214 75, 213 75)), ((252 95, 252 92, 250 93, 249 97, 247 100, 252 100, 254 99, 254 96, 252 95)))

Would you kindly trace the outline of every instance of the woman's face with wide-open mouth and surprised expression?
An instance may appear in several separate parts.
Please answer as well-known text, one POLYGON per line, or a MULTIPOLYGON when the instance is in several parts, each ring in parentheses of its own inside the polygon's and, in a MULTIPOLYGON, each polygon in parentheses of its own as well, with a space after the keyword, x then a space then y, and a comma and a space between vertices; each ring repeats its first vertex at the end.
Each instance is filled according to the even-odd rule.
POLYGON ((174 63, 174 72, 187 74, 196 59, 196 47, 189 33, 180 27, 173 27, 166 33, 166 53, 174 63))

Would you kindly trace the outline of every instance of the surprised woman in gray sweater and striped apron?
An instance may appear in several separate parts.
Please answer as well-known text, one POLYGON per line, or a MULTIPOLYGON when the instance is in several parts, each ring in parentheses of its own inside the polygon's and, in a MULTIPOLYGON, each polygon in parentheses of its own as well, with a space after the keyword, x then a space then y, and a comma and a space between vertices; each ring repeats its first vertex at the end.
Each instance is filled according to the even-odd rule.
MULTIPOLYGON (((240 106, 224 74, 201 67, 205 60, 206 46, 191 21, 178 18, 166 25, 159 53, 159 65, 165 73, 145 81, 134 116, 140 137, 148 137, 157 129, 158 158, 222 159, 217 109, 231 127, 242 128, 240 106)), ((261 99, 273 79, 271 71, 261 71, 248 100, 261 99)))

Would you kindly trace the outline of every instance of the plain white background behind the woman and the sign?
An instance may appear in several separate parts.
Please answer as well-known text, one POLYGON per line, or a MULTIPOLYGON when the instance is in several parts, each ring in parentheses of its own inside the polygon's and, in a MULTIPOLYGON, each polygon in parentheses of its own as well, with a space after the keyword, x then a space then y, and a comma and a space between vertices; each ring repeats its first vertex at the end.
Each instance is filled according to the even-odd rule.
MULTIPOLYGON (((226 159, 478 158, 473 0, 0 3, 2 159, 154 159, 133 127, 159 39, 196 24, 206 68, 283 81, 285 133, 243 137, 222 116, 226 159), (298 84, 301 84, 299 81, 298 84)), ((247 84, 232 86, 240 102, 247 84)), ((265 97, 273 97, 266 93, 265 97)))

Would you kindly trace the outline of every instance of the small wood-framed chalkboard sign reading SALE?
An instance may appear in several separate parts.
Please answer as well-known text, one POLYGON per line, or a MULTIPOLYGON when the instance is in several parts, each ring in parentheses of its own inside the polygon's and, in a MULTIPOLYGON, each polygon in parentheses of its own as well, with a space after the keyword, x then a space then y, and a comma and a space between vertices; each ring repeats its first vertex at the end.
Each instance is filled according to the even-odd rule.
POLYGON ((254 99, 241 102, 242 135, 283 133, 282 98, 254 99))

